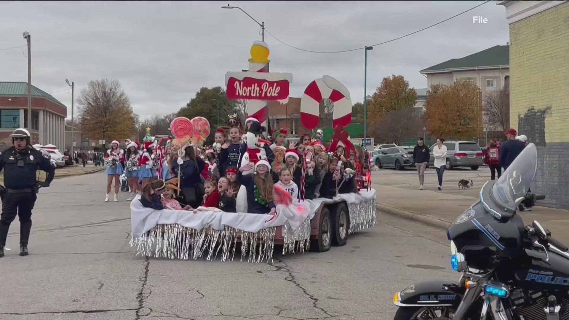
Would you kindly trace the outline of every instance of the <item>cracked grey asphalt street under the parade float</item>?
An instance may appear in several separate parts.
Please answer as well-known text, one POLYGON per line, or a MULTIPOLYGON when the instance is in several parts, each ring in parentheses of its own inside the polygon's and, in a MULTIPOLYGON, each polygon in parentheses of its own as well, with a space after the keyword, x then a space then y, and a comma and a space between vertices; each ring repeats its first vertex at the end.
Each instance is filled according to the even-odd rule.
POLYGON ((97 173, 41 190, 30 256, 18 256, 14 221, 0 259, 0 319, 392 319, 394 292, 458 277, 442 232, 381 212, 344 247, 276 253, 274 264, 135 256, 129 202, 104 203, 105 182, 97 173))

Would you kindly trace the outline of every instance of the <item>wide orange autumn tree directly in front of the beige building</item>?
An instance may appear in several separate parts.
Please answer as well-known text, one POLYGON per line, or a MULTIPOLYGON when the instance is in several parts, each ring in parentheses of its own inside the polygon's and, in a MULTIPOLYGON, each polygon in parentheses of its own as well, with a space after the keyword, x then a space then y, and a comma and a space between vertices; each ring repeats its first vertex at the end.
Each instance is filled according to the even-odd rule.
POLYGON ((431 85, 424 106, 423 117, 434 136, 455 139, 480 136, 480 90, 475 83, 457 81, 452 85, 431 85))

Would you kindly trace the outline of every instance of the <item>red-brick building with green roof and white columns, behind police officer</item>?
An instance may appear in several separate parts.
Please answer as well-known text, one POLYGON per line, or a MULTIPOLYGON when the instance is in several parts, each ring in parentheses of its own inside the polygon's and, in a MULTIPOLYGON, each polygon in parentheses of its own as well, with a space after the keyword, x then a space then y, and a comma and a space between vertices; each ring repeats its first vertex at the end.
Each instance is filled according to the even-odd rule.
MULTIPOLYGON (((28 85, 0 82, 0 146, 11 145, 10 134, 28 126, 28 85)), ((67 107, 49 93, 32 86, 32 144, 64 145, 67 107)))

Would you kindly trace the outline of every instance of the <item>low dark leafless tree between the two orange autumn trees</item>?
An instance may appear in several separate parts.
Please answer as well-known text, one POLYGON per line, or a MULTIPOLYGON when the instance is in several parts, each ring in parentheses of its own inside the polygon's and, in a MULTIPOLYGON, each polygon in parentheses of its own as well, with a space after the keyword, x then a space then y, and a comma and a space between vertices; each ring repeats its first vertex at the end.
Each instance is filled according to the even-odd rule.
POLYGON ((413 107, 391 110, 378 124, 370 125, 370 133, 377 141, 393 142, 398 145, 403 141, 423 135, 424 121, 413 107))

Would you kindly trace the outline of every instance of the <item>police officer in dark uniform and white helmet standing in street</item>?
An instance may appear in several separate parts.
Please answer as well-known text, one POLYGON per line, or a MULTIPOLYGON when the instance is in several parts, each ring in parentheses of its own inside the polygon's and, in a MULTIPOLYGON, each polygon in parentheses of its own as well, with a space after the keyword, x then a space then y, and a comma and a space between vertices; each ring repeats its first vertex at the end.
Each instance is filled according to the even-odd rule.
POLYGON ((49 187, 55 174, 50 160, 30 144, 30 132, 16 129, 10 135, 12 144, 0 154, 0 170, 4 169, 2 188, 2 215, 0 218, 0 257, 4 256, 4 246, 10 223, 16 215, 20 218, 20 256, 28 255, 28 239, 32 228, 32 209, 39 187, 49 187), (36 179, 36 171, 46 171, 45 182, 36 179))

